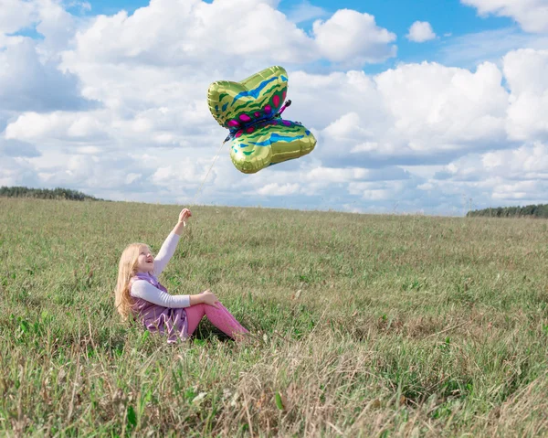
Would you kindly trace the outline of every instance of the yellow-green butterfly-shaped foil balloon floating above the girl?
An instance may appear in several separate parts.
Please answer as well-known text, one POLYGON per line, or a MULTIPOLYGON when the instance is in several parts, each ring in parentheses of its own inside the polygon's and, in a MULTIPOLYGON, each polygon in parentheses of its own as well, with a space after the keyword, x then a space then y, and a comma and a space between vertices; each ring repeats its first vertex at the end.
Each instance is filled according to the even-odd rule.
POLYGON ((240 172, 253 174, 311 153, 316 139, 299 122, 281 119, 288 74, 282 67, 264 69, 246 80, 219 80, 207 91, 209 111, 229 130, 230 158, 240 172))

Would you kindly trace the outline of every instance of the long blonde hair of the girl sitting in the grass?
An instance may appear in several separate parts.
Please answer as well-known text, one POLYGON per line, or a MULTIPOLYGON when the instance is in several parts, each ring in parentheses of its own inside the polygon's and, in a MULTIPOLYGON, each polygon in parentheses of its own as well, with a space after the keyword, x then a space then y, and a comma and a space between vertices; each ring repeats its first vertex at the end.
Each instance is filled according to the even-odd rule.
POLYGON ((132 314, 133 298, 130 295, 130 282, 132 276, 137 273, 137 262, 142 247, 148 248, 144 243, 132 243, 121 253, 118 263, 118 282, 114 290, 114 305, 123 321, 132 314))

